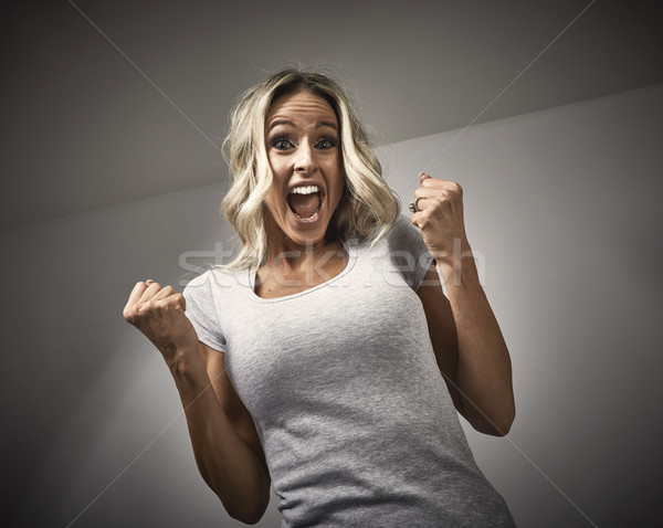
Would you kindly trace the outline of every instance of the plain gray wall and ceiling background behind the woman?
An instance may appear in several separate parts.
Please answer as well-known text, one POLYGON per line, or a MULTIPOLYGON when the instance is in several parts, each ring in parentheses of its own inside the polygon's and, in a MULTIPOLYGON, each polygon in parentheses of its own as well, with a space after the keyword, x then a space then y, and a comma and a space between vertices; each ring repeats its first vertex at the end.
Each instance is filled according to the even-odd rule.
MULTIPOLYGON (((67 2, 1 4, 11 526, 238 526, 120 311, 137 279, 180 288, 233 247, 204 136, 291 61, 357 93, 403 203, 441 151, 430 172, 465 189, 518 405, 507 439, 467 434, 518 524, 656 524, 661 18, 596 2, 465 131, 589 2, 532 3, 76 3, 202 134, 67 2)), ((261 526, 277 522, 273 501, 261 526)))

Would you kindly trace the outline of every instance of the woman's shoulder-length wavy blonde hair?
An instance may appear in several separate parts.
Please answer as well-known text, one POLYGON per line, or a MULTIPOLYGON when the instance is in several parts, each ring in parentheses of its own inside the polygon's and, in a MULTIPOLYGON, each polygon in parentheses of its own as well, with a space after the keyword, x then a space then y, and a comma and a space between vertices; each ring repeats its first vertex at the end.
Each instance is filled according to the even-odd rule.
POLYGON ((382 178, 380 162, 344 87, 319 73, 283 70, 242 94, 230 114, 223 154, 231 186, 221 211, 242 247, 225 267, 253 268, 266 258, 264 200, 273 179, 265 146, 266 117, 272 102, 302 89, 329 103, 340 129, 345 189, 329 223, 328 237, 378 240, 399 214, 398 198, 382 178))

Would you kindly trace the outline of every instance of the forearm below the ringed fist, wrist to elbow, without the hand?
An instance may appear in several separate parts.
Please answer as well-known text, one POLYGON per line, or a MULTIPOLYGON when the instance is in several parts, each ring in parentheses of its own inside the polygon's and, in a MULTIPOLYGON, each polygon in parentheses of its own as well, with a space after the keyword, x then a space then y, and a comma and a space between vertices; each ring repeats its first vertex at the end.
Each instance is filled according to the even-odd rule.
POLYGON ((503 435, 515 416, 511 358, 469 245, 462 255, 440 265, 457 334, 454 382, 470 423, 503 435))

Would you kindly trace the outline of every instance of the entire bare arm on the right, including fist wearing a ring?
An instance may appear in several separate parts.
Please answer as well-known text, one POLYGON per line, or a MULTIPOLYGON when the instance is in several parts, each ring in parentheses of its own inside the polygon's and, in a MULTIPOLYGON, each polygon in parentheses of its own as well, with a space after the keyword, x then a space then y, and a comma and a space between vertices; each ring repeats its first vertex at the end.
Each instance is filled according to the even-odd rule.
POLYGON ((515 418, 508 349, 478 281, 465 235, 462 189, 457 183, 421 175, 411 217, 435 258, 420 287, 438 365, 459 412, 477 430, 504 435, 515 418))

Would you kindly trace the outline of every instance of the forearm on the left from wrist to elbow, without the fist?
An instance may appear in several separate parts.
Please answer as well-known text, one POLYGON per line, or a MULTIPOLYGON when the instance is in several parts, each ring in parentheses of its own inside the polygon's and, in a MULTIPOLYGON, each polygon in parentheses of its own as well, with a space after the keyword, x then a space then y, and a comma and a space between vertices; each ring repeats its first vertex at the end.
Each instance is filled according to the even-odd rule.
POLYGON ((269 474, 223 412, 202 360, 194 353, 178 356, 169 368, 185 409, 200 474, 229 515, 255 522, 270 500, 269 474))

